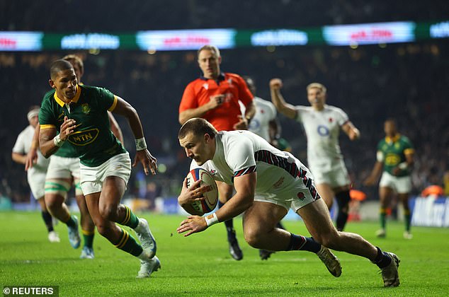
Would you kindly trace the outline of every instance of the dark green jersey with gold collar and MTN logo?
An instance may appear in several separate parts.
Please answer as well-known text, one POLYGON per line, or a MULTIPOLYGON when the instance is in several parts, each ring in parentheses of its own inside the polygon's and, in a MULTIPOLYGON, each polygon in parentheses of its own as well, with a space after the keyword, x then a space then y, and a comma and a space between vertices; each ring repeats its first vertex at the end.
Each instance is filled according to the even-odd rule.
POLYGON ((65 116, 75 120, 79 126, 64 146, 72 148, 83 165, 96 167, 119 153, 126 153, 110 131, 108 110, 114 110, 117 100, 105 88, 93 86, 78 85, 70 104, 59 99, 55 90, 50 91, 40 107, 40 129, 56 128, 59 132, 65 116))

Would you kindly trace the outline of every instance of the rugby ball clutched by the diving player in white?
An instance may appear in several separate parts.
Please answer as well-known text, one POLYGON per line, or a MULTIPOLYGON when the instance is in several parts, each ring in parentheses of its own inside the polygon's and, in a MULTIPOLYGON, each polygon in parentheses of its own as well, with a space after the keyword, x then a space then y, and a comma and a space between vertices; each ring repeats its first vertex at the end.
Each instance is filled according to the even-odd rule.
POLYGON ((204 200, 195 201, 191 205, 195 211, 198 211, 201 215, 207 214, 208 212, 215 209, 218 203, 218 188, 214 177, 203 168, 192 169, 187 177, 187 187, 191 187, 193 182, 201 180, 200 186, 207 185, 208 191, 203 192, 204 200))

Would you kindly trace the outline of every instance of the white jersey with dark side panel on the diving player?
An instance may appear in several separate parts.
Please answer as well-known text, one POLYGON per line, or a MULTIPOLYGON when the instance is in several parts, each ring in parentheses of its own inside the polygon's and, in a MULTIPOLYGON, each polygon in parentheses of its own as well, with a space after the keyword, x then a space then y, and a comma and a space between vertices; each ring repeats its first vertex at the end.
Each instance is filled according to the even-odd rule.
POLYGON ((252 132, 222 131, 215 136, 215 155, 198 166, 193 160, 191 169, 202 167, 215 180, 233 184, 234 177, 257 172, 256 194, 277 194, 295 188, 295 182, 309 189, 312 197, 317 192, 308 169, 291 153, 280 151, 252 132), (307 176, 306 176, 307 174, 307 176))

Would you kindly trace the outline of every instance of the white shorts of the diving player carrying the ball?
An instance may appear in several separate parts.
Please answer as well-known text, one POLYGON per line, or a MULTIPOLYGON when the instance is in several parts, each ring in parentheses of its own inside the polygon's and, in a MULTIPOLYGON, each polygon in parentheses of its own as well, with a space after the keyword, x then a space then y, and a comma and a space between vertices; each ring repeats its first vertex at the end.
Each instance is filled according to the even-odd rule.
MULTIPOLYGON (((297 165, 300 167, 299 164, 297 165)), ((285 178, 291 178, 286 171, 285 178)), ((273 203, 283 206, 287 211, 292 209, 295 212, 317 199, 320 199, 320 197, 315 189, 312 175, 309 172, 306 173, 304 178, 296 177, 295 182, 290 183, 287 187, 283 187, 283 189, 275 191, 275 193, 263 192, 254 195, 254 201, 273 203)))

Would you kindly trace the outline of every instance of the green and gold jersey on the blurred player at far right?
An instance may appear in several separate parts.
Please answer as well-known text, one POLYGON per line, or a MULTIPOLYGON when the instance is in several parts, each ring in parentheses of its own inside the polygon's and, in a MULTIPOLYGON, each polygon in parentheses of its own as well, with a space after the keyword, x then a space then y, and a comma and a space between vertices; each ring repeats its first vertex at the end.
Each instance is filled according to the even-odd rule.
MULTIPOLYGON (((377 160, 382 161, 383 170, 393 174, 393 168, 396 168, 402 162, 406 161, 405 155, 414 153, 414 148, 406 136, 397 134, 393 138, 385 137, 377 145, 377 160)), ((407 176, 409 170, 403 169, 395 176, 407 176)))

